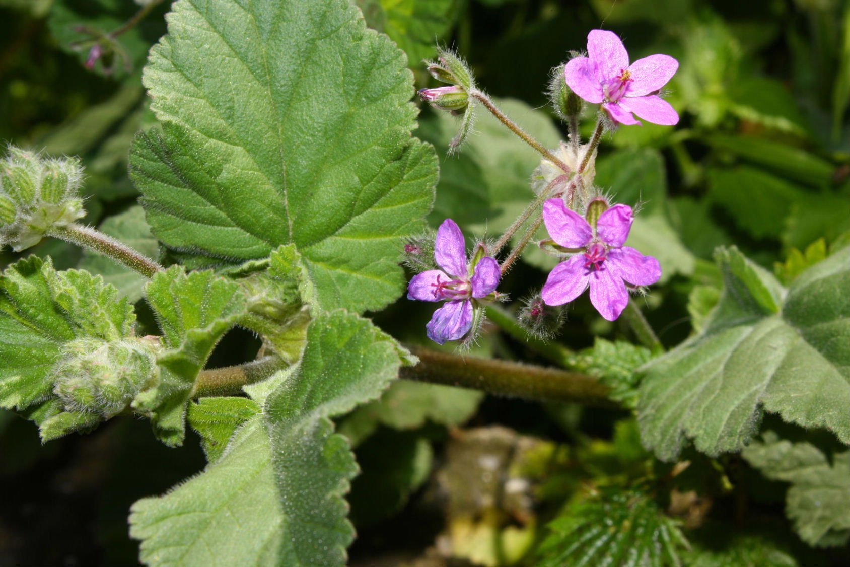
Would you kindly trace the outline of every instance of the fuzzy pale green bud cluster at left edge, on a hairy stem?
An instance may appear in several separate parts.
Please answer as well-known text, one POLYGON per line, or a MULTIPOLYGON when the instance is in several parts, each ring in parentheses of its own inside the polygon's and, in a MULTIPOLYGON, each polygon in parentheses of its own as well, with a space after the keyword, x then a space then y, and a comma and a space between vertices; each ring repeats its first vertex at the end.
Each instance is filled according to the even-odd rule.
POLYGON ((20 252, 53 226, 82 218, 82 166, 77 158, 44 158, 8 147, 0 161, 0 247, 20 252))

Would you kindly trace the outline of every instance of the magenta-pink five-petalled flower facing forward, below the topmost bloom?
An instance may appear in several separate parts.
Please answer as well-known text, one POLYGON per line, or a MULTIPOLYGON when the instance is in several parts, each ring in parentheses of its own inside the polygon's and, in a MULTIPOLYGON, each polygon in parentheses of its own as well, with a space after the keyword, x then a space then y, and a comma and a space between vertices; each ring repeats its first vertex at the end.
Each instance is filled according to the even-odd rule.
POLYGON ((649 286, 661 277, 658 260, 623 246, 632 228, 632 207, 610 207, 591 226, 563 200, 549 199, 543 205, 543 220, 555 242, 578 252, 549 274, 541 292, 549 305, 568 303, 590 286, 593 307, 605 319, 615 320, 629 303, 626 282, 649 286))

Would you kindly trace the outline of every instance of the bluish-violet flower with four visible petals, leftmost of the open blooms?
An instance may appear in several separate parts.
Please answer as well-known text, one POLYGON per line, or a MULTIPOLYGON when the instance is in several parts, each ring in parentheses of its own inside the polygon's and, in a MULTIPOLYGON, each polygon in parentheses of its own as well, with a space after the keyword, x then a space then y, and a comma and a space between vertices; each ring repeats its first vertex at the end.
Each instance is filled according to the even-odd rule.
POLYGON ((428 322, 428 338, 445 344, 463 338, 472 329, 475 300, 496 290, 501 269, 495 258, 484 256, 467 260, 463 233, 455 221, 446 218, 437 230, 433 259, 442 269, 417 274, 407 286, 407 298, 419 301, 447 301, 428 322))

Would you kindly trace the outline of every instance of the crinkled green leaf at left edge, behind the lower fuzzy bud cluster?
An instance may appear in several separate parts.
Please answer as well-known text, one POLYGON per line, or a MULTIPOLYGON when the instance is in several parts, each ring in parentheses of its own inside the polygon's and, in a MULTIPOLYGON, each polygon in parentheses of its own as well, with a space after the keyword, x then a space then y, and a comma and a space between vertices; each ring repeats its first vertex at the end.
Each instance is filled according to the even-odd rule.
POLYGON ((35 256, 0 276, 0 407, 37 422, 57 413, 52 369, 62 346, 82 337, 130 336, 135 315, 115 287, 87 272, 57 272, 35 256))

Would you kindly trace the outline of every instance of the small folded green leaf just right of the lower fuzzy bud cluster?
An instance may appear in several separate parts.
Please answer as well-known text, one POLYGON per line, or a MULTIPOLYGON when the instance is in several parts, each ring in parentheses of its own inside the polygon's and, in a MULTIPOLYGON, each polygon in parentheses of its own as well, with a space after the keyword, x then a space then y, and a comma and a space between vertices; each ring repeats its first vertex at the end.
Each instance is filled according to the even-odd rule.
POLYGON ((133 408, 150 416, 154 431, 166 445, 183 443, 186 403, 195 378, 218 339, 245 312, 239 284, 212 271, 186 274, 173 266, 154 275, 145 287, 166 350, 156 357, 161 380, 140 394, 133 408))

